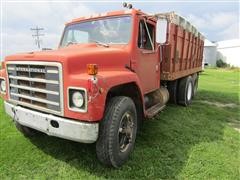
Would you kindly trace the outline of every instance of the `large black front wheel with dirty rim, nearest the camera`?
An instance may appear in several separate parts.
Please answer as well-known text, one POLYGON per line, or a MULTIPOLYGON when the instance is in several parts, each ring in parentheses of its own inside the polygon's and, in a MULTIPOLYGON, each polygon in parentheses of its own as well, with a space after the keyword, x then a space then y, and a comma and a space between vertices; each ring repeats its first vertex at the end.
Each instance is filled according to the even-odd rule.
POLYGON ((137 112, 132 99, 118 96, 110 100, 100 124, 96 143, 98 159, 107 166, 120 167, 129 158, 137 133, 137 112))

